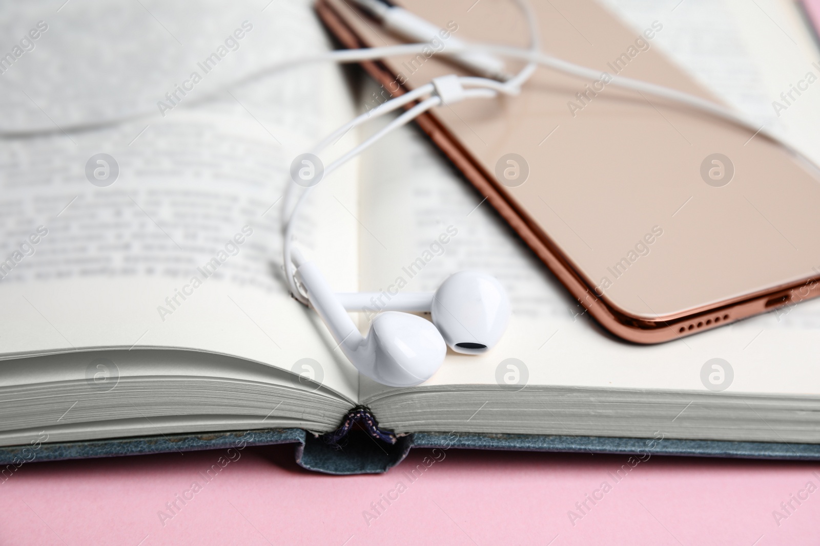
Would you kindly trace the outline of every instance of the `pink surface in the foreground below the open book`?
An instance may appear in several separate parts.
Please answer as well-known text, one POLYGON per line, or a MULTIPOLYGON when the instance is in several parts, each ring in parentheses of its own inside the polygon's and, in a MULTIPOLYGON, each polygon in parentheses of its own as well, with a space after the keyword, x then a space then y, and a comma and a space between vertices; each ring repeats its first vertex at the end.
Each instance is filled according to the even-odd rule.
POLYGON ((385 475, 326 476, 293 449, 244 449, 164 526, 158 512, 224 449, 26 463, 0 484, 0 544, 820 544, 820 490, 779 526, 772 516, 820 486, 820 463, 654 455, 616 482, 626 456, 449 449, 411 481, 430 450, 385 475), (603 481, 573 526, 567 512, 603 481), (363 512, 398 482, 368 526, 363 512))

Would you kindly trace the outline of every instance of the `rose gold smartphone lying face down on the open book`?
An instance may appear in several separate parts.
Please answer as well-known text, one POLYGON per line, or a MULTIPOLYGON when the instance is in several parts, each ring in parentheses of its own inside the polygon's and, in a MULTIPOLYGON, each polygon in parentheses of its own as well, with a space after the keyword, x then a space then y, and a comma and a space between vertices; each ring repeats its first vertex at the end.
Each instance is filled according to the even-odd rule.
MULTIPOLYGON (((527 43, 510 0, 398 3, 463 40, 527 43)), ((593 0, 532 3, 542 50, 599 79, 539 69, 519 97, 418 124, 581 305, 616 336, 658 343, 818 296, 813 166, 759 133, 609 86, 621 74, 719 102, 658 52, 663 21, 638 34, 593 0)), ((345 0, 317 12, 344 47, 402 43, 345 0)), ((382 102, 471 75, 426 53, 363 65, 382 102)))

